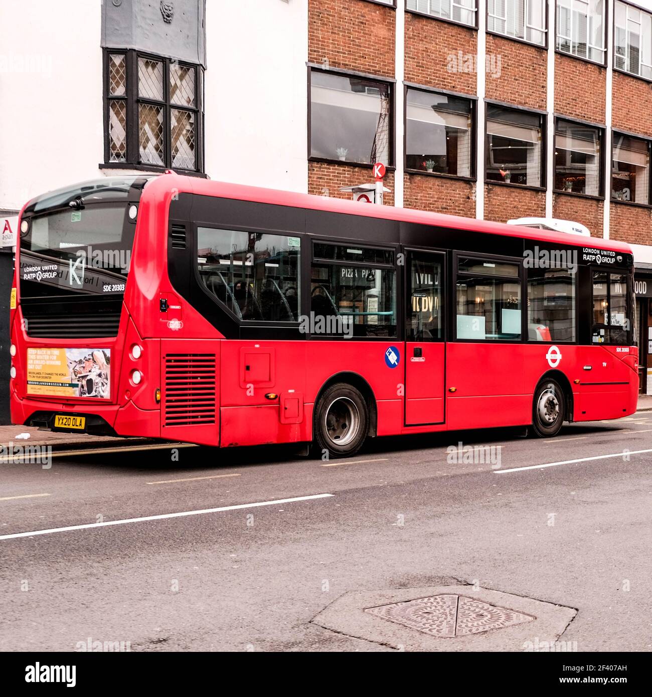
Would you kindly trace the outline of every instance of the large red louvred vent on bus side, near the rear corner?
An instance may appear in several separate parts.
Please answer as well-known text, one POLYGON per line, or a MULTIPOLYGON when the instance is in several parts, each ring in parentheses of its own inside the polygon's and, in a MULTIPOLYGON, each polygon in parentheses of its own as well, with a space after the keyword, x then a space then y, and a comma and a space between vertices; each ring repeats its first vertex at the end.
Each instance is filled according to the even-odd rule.
POLYGON ((215 370, 214 353, 165 355, 165 426, 215 423, 215 370))

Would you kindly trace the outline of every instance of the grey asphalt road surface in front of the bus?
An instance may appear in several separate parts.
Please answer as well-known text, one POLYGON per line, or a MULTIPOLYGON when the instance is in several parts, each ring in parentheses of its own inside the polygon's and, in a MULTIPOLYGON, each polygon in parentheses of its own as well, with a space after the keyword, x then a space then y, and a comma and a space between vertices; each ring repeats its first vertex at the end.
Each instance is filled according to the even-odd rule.
POLYGON ((651 465, 652 413, 552 441, 381 438, 330 462, 193 447, 5 464, 0 536, 54 531, 0 539, 0 650, 389 650, 310 620, 349 590, 477 581, 577 608, 562 638, 579 651, 649 651, 651 465), (492 461, 452 461, 460 441, 492 461))

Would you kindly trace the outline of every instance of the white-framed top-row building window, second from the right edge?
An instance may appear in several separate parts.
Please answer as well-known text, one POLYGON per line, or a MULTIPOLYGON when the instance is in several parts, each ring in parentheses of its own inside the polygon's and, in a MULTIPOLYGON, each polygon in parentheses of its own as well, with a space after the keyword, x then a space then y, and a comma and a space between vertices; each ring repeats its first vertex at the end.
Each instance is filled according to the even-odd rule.
POLYGON ((605 62, 605 0, 557 0, 557 50, 605 62))

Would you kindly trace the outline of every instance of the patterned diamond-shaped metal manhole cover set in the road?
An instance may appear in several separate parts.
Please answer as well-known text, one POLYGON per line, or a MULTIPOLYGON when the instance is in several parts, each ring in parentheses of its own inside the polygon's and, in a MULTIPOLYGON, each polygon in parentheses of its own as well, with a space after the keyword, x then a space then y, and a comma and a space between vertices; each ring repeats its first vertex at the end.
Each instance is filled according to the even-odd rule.
POLYGON ((490 605, 464 595, 442 594, 365 608, 365 612, 438 637, 480 634, 536 620, 533 615, 490 605))

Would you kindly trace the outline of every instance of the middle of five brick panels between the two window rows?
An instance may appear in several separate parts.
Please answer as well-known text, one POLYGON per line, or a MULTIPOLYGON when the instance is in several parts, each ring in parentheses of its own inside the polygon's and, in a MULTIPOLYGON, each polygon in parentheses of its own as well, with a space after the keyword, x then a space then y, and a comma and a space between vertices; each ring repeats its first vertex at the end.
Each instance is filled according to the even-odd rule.
POLYGON ((487 34, 487 99, 546 108, 545 49, 487 34))

